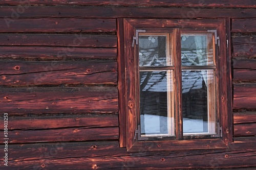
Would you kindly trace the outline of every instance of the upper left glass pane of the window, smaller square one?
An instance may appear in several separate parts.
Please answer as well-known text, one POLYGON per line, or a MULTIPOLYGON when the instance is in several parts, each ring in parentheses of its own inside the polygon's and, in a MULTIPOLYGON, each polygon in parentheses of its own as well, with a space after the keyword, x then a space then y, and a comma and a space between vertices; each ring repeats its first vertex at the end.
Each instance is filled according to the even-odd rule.
POLYGON ((168 34, 139 36, 140 66, 169 65, 168 34))

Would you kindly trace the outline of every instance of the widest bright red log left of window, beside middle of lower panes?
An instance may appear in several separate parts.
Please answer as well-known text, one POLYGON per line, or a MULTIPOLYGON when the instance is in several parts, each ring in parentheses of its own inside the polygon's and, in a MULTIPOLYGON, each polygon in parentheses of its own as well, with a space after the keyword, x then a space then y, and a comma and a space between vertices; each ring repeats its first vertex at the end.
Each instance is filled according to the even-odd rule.
POLYGON ((117 112, 116 87, 0 88, 0 107, 9 114, 117 112))

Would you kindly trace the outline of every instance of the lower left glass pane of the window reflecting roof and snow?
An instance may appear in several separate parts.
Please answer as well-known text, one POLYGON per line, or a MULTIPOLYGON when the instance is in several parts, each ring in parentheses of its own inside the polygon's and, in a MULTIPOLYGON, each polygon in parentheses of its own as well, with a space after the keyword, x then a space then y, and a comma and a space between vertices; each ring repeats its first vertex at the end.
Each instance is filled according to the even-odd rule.
POLYGON ((142 135, 173 135, 170 71, 140 71, 140 122, 142 135))

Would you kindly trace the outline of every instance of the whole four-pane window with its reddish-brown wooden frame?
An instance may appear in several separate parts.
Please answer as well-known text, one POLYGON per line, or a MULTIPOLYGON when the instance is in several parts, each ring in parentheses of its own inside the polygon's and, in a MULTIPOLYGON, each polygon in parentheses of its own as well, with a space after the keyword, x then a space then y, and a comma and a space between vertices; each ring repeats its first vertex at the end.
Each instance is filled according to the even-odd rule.
POLYGON ((127 150, 227 147, 225 24, 123 20, 127 150))

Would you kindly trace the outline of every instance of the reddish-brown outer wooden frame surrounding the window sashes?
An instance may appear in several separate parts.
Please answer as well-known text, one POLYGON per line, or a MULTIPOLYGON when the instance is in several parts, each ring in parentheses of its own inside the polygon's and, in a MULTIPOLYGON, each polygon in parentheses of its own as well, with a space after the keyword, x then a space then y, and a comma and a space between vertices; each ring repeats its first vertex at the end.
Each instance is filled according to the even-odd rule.
MULTIPOLYGON (((228 41, 230 33, 229 19, 118 19, 118 64, 119 64, 119 123, 120 123, 120 147, 126 147, 127 151, 175 151, 227 148, 232 142, 232 104, 231 90, 231 62, 228 41), (134 138, 137 130, 137 111, 139 102, 137 93, 138 63, 135 60, 136 47, 132 46, 136 30, 142 29, 208 29, 217 30, 220 46, 216 49, 217 66, 217 117, 220 120, 223 135, 220 138, 191 139, 191 140, 156 140, 137 141, 134 138), (227 34, 228 33, 228 34, 227 34)), ((164 31, 163 31, 164 32, 164 31)), ((175 34, 179 35, 179 34, 175 34)), ((174 39, 180 38, 178 36, 174 39)), ((175 40, 174 40, 175 42, 175 40)), ((179 47, 178 47, 179 48, 179 47)), ((178 49, 173 50, 178 54, 178 49)), ((179 77, 181 77, 178 74, 179 77)), ((177 95, 177 94, 176 94, 177 95)), ((178 98, 176 105, 181 103, 178 98)), ((180 106, 176 106, 179 108, 180 106)), ((176 126, 181 126, 178 123, 176 126)))

